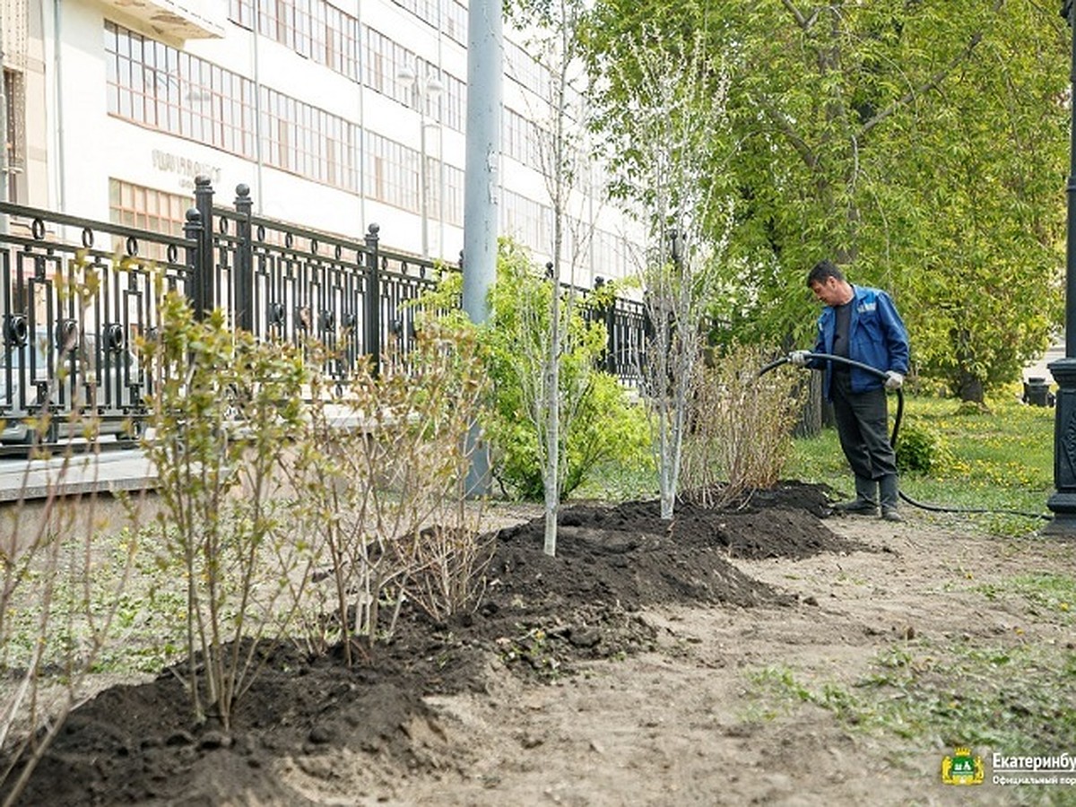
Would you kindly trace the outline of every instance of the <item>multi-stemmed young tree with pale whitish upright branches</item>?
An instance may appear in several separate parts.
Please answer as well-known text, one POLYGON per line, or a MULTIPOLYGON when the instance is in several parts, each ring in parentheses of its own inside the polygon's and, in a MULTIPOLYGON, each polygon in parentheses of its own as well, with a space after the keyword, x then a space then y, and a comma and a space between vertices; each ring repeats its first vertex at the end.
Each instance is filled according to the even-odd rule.
POLYGON ((641 210, 649 252, 641 269, 650 321, 643 394, 659 466, 662 518, 672 518, 688 413, 707 316, 718 289, 732 212, 712 173, 726 142, 722 68, 698 37, 643 30, 611 81, 624 103, 607 110, 618 194, 641 210))

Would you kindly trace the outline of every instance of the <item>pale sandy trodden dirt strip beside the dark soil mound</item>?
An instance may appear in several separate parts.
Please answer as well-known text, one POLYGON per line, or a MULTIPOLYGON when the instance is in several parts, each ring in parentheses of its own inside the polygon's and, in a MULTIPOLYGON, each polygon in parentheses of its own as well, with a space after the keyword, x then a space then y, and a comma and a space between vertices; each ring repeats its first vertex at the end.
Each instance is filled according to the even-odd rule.
MULTIPOLYGON (((1071 571, 1076 542, 968 536, 915 515, 902 525, 830 526, 878 551, 736 562, 798 594, 797 607, 650 610, 645 618, 661 628, 656 652, 594 663, 544 686, 525 684, 491 660, 487 694, 430 698, 440 717, 417 739, 440 773, 377 783, 359 775, 370 785, 360 803, 930 805, 1043 797, 989 783, 945 785, 940 763, 952 749, 939 740, 898 747, 809 704, 760 703, 748 696, 749 674, 788 670, 817 688, 851 683, 894 647, 1072 641, 1071 626, 1034 621, 1019 597, 989 599, 975 586, 1028 571, 1071 571)), ((1052 752, 1064 750, 1076 751, 1052 752)))

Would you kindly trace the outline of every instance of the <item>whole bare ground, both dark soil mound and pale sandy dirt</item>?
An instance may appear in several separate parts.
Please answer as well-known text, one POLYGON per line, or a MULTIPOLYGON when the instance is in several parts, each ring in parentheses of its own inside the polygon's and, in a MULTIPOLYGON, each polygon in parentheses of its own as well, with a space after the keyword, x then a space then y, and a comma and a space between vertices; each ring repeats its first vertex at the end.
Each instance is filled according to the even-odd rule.
MULTIPOLYGON (((803 704, 769 713, 751 674, 851 684, 924 641, 1072 642, 976 586, 1070 574, 1076 542, 822 518, 789 483, 736 511, 574 505, 557 557, 534 509, 500 509, 473 614, 407 614, 348 670, 275 649, 233 731, 193 726, 176 677, 77 709, 27 805, 1017 804, 940 781, 953 748, 856 731, 803 704), (767 712, 766 717, 761 717, 767 712)), ((1039 749, 1076 752, 1076 749, 1039 749)), ((989 780, 989 771, 988 771, 989 780)), ((1074 791, 1076 792, 1076 791, 1074 791)))

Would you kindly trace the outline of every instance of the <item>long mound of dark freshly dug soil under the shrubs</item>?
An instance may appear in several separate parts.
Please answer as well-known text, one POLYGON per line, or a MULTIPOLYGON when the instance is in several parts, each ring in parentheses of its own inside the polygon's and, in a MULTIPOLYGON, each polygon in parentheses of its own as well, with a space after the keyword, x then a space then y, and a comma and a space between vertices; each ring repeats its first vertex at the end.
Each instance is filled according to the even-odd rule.
POLYGON ((756 492, 737 509, 682 504, 672 522, 661 520, 656 501, 577 505, 562 513, 556 557, 542 551, 541 519, 501 530, 473 614, 435 624, 405 612, 393 640, 353 669, 264 648, 265 667, 229 735, 192 725, 172 672, 112 688, 72 713, 20 804, 301 805, 278 775, 282 761, 330 778, 334 749, 400 771, 436 767, 414 746, 415 732, 431 725, 423 696, 482 691, 491 653, 521 675, 551 678, 580 660, 651 648, 654 631, 638 613, 646 606, 792 606, 730 558, 863 549, 825 527, 825 507, 822 490, 796 483, 756 492))

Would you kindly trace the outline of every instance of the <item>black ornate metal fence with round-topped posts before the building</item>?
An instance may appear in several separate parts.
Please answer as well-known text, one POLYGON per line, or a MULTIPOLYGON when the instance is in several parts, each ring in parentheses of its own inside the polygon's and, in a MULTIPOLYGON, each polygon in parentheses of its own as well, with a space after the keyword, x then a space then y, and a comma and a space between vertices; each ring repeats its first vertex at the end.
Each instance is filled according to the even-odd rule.
MULTIPOLYGON (((356 242, 256 216, 249 188, 236 192, 231 208, 214 204, 198 178, 174 237, 0 203, 9 221, 0 232, 0 453, 67 440, 72 412, 94 415, 115 444, 137 439, 150 378, 133 344, 158 324, 156 271, 196 312, 220 307, 258 338, 314 337, 342 349, 326 368, 340 379, 360 356, 378 367, 390 345, 408 349, 415 310, 407 303, 436 285, 434 261, 383 249, 378 225, 356 242), (25 421, 45 411, 49 427, 36 434, 25 421)), ((617 299, 592 315, 608 332, 604 369, 635 383, 642 303, 617 299)))

